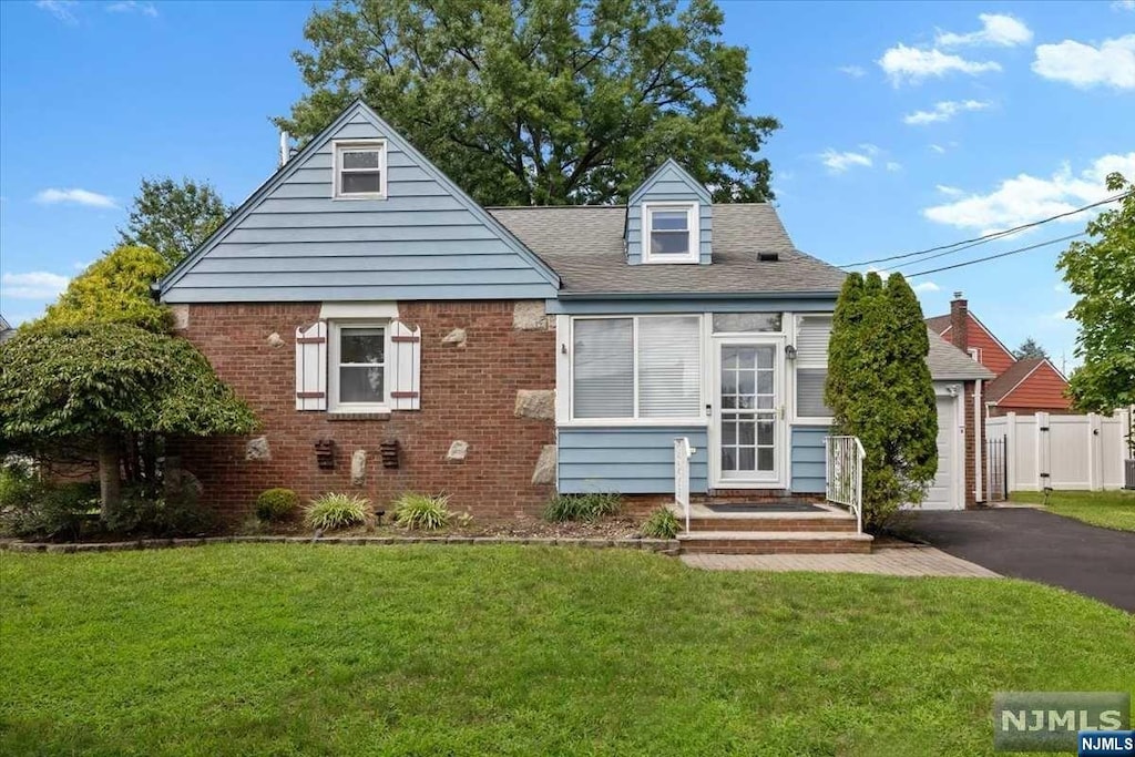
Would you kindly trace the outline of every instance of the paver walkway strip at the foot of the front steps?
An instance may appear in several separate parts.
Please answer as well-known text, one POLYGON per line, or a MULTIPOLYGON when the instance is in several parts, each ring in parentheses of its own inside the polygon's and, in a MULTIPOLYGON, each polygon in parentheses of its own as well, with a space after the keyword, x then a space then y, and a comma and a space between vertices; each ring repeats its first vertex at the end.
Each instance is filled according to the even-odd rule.
POLYGON ((711 571, 818 571, 884 575, 1000 578, 968 561, 933 547, 876 549, 869 555, 682 555, 691 567, 711 571))

